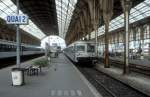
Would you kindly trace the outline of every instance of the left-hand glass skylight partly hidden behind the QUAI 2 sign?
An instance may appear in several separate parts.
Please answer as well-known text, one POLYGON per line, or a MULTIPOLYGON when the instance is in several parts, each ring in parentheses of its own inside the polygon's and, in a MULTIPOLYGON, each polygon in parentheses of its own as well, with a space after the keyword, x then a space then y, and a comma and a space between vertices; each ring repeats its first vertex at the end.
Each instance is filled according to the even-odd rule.
MULTIPOLYGON (((5 20, 7 15, 15 14, 16 10, 17 7, 11 0, 0 0, 0 18, 5 20)), ((23 12, 20 10, 19 14, 23 12)), ((45 34, 30 19, 29 25, 21 25, 20 28, 39 39, 45 37, 45 34)))

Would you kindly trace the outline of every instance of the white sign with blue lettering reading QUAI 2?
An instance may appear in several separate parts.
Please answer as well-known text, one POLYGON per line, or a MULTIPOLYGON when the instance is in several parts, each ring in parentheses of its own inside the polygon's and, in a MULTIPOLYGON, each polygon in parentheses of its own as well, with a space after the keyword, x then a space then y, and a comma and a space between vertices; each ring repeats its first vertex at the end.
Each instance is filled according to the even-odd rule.
POLYGON ((8 15, 6 17, 7 24, 27 25, 29 18, 27 15, 8 15))

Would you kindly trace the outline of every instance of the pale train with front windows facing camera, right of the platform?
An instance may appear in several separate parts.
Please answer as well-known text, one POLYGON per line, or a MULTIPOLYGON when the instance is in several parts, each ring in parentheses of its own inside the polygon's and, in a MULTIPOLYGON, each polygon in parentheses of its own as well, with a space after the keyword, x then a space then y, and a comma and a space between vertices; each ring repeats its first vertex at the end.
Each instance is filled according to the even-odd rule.
POLYGON ((77 41, 64 49, 64 53, 75 63, 90 62, 97 60, 95 43, 91 41, 77 41))

